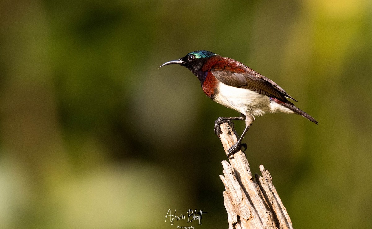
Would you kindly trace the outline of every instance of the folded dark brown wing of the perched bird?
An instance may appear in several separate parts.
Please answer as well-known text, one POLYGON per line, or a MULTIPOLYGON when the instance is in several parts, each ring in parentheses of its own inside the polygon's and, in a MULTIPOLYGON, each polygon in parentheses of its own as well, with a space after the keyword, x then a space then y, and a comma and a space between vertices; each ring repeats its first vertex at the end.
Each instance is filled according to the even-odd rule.
POLYGON ((234 64, 232 67, 225 65, 224 68, 221 68, 221 65, 212 66, 211 72, 219 81, 226 85, 247 88, 269 97, 277 98, 283 102, 288 101, 285 97, 297 101, 271 79, 260 75, 239 62, 234 64))

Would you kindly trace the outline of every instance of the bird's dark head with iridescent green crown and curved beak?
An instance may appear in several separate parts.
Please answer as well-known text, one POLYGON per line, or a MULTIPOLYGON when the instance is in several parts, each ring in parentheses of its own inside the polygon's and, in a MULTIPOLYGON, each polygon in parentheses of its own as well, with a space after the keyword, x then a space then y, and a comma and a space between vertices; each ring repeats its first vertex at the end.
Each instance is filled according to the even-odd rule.
POLYGON ((201 69, 205 62, 212 56, 217 56, 217 54, 206 50, 193 51, 178 60, 168 61, 161 65, 159 68, 165 65, 179 64, 190 69, 192 73, 198 76, 198 73, 201 72, 201 69))

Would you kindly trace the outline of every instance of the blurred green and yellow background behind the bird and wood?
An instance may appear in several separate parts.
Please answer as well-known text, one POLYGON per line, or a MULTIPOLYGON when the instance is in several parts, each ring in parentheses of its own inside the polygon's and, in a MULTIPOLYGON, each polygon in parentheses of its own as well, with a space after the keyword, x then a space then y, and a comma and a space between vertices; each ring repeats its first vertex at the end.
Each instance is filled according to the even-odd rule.
POLYGON ((1 1, 0 227, 227 228, 213 126, 237 113, 158 69, 200 49, 319 121, 257 117, 244 140, 294 227, 372 228, 370 0, 1 1))

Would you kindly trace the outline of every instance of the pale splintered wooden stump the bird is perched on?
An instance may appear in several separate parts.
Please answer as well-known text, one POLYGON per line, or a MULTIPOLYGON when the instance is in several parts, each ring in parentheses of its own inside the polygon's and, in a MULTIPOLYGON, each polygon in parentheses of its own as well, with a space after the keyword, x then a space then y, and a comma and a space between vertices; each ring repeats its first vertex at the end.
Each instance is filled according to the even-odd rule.
MULTIPOLYGON (((219 135, 226 154, 237 142, 237 134, 229 123, 221 124, 219 135)), ((222 161, 225 185, 224 205, 228 214, 229 229, 293 229, 291 219, 272 183, 272 177, 263 165, 262 176, 253 178, 246 155, 234 154, 230 163, 222 161)))

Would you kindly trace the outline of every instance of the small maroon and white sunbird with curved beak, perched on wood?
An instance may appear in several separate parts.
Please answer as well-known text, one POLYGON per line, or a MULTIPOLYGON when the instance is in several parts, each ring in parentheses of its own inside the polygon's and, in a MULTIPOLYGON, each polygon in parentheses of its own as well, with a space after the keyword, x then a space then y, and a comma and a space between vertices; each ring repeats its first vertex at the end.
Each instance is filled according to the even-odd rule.
POLYGON ((228 158, 247 144, 242 144, 244 135, 255 121, 254 116, 265 113, 289 113, 301 115, 311 122, 317 120, 298 109, 290 100, 295 100, 271 79, 248 68, 243 63, 222 57, 211 51, 192 51, 186 56, 171 60, 159 68, 178 64, 191 70, 199 79, 204 93, 213 101, 240 113, 238 117, 219 117, 215 120, 215 134, 222 134, 220 124, 231 120, 245 120, 246 127, 238 141, 228 149, 228 158))

